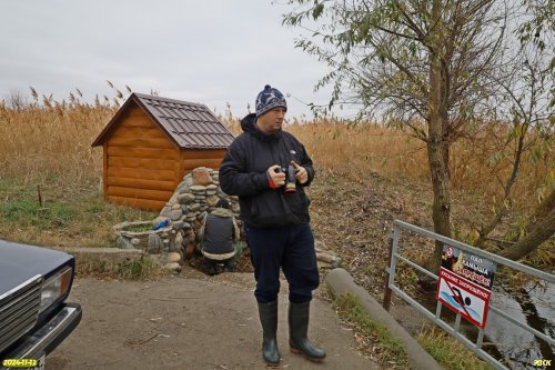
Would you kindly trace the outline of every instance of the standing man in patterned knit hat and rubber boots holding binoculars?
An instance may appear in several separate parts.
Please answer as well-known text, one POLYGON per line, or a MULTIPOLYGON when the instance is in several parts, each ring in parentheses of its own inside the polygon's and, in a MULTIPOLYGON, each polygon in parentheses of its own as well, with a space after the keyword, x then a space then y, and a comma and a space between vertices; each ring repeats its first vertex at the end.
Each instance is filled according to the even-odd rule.
POLYGON ((322 361, 325 352, 306 338, 312 291, 320 284, 309 199, 303 190, 314 179, 312 160, 303 144, 282 130, 287 104, 278 89, 266 84, 255 106, 256 113, 241 121, 244 132, 222 161, 220 187, 239 196, 256 278, 262 354, 268 364, 280 363, 276 329, 282 268, 290 288, 290 348, 312 361, 322 361), (286 172, 293 178, 286 179, 286 172))

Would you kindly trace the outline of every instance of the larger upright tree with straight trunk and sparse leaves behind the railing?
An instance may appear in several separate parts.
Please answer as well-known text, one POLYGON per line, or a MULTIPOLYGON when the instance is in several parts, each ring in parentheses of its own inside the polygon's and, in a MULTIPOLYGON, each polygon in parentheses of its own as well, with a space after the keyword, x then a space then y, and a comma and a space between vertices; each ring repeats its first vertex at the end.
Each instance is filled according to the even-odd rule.
MULTIPOLYGON (((330 108, 379 112, 425 142, 435 232, 451 237, 450 147, 491 93, 506 8, 494 0, 290 0, 284 24, 312 29, 296 46, 331 68, 330 108)), ((443 244, 426 261, 438 268, 443 244)))

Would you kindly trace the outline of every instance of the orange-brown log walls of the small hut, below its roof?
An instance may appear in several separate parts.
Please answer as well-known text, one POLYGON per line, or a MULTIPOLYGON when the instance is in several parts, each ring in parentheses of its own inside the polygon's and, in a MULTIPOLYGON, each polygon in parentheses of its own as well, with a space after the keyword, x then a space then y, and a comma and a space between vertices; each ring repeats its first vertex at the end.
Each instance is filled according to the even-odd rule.
POLYGON ((225 149, 180 150, 138 107, 121 116, 103 146, 104 199, 160 211, 183 177, 220 168, 225 149))

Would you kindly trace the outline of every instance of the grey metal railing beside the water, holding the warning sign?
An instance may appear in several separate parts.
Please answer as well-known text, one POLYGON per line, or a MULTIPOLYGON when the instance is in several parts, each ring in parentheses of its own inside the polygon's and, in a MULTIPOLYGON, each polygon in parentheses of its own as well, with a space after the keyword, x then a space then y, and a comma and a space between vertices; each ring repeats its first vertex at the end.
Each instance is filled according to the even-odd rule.
MULTIPOLYGON (((384 296, 384 302, 383 302, 384 309, 387 311, 390 310, 391 294, 393 292, 397 297, 402 298, 404 301, 408 302, 413 308, 415 308, 418 312, 424 314, 427 319, 433 321, 440 328, 442 328, 443 330, 448 332, 451 336, 453 336, 455 339, 457 339, 460 342, 462 342, 466 348, 468 348, 471 351, 476 353, 484 361, 492 364, 495 369, 503 369, 503 370, 507 369, 503 363, 497 361, 495 358, 490 356, 490 353, 487 353, 486 351, 484 351, 482 349, 485 327, 480 329, 476 342, 473 342, 460 332, 461 318, 462 318, 461 313, 456 313, 455 323, 452 327, 447 322, 443 321, 443 319, 441 318, 442 308, 444 304, 440 300, 437 301, 437 306, 436 306, 436 310, 435 310, 435 314, 434 314, 430 310, 427 310, 424 306, 422 306, 416 300, 414 300, 408 294, 406 294, 400 287, 395 286, 395 269, 396 269, 397 261, 403 261, 404 263, 411 266, 412 268, 421 271, 422 273, 425 273, 426 276, 428 276, 435 280, 440 279, 440 277, 437 277, 436 274, 427 271, 426 269, 422 268, 421 266, 414 263, 413 261, 404 258, 403 256, 401 256, 398 253, 398 244, 400 244, 402 230, 410 230, 410 231, 413 231, 413 232, 418 233, 421 236, 434 239, 436 241, 441 241, 447 246, 455 247, 460 250, 463 250, 463 251, 466 251, 468 253, 487 259, 490 261, 496 262, 497 264, 506 266, 506 267, 509 267, 509 268, 515 269, 517 271, 522 271, 526 274, 529 274, 529 276, 535 277, 537 279, 547 281, 549 283, 555 283, 555 276, 536 270, 536 269, 527 267, 525 264, 508 260, 508 259, 500 257, 497 254, 493 254, 493 253, 486 252, 484 250, 471 247, 468 244, 453 240, 451 238, 443 237, 443 236, 437 234, 435 232, 427 231, 425 229, 415 227, 411 223, 406 223, 406 222, 403 222, 400 220, 395 220, 393 223, 394 223, 393 238, 392 238, 392 242, 390 246, 390 248, 391 248, 390 259, 391 260, 390 260, 390 267, 386 268, 387 279, 386 279, 385 296, 384 296)), ((496 309, 493 306, 490 306, 490 311, 495 312, 500 317, 518 326, 519 328, 536 336, 537 338, 541 338, 545 342, 549 343, 549 346, 552 346, 552 347, 555 346, 555 340, 553 338, 546 336, 543 332, 537 331, 536 329, 529 327, 527 323, 512 318, 511 316, 506 314, 505 312, 501 311, 500 309, 496 309)))

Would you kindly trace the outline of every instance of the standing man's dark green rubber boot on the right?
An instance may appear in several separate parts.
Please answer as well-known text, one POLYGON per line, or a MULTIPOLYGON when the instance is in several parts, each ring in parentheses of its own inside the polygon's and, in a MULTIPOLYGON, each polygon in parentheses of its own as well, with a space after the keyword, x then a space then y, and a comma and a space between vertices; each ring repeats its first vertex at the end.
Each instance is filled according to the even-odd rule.
POLYGON ((311 361, 321 362, 325 358, 325 351, 311 343, 306 337, 310 304, 310 301, 289 303, 289 347, 293 353, 301 353, 311 361))

